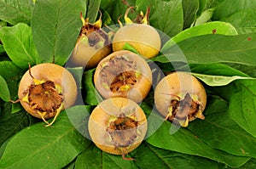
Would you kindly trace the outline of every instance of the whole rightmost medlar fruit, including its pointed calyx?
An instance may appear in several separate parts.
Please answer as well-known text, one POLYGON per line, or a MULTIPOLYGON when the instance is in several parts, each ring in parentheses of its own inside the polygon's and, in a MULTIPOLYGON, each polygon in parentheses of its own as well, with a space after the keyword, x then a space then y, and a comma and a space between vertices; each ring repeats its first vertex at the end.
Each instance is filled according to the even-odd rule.
POLYGON ((165 76, 155 87, 154 104, 166 120, 187 127, 202 114, 207 104, 207 93, 195 76, 174 72, 165 76))

